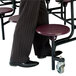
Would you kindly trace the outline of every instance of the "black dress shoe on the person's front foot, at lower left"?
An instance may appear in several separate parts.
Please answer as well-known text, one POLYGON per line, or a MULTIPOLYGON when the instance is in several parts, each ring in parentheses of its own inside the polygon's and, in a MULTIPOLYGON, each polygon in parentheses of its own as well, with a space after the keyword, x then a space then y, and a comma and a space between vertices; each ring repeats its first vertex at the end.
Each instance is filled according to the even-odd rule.
POLYGON ((26 63, 23 62, 23 63, 10 63, 11 66, 21 66, 21 67, 33 67, 33 66, 36 66, 38 65, 39 62, 36 62, 36 61, 27 61, 26 63))

